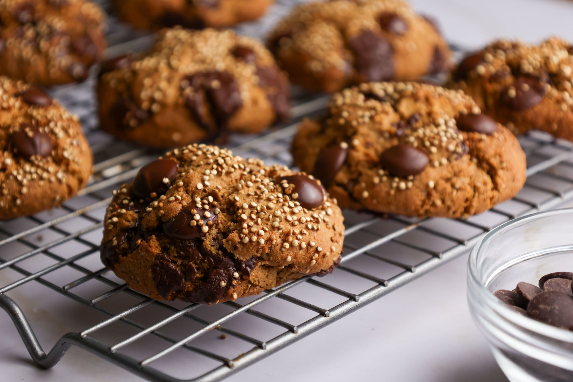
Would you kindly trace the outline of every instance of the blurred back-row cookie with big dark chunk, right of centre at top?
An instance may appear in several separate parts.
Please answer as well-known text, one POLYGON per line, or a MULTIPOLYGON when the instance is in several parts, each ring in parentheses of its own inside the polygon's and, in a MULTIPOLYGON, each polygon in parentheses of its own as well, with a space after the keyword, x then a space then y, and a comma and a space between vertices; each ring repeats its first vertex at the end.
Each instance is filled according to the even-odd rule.
POLYGON ((399 0, 334 0, 297 6, 268 40, 291 81, 336 92, 365 81, 415 80, 450 66, 429 18, 399 0))

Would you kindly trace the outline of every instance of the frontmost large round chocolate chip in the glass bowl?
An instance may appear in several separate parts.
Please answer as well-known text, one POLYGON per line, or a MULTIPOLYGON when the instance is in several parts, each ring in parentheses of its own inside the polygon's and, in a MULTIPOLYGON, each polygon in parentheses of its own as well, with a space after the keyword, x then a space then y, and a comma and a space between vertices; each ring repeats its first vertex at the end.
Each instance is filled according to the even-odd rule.
POLYGON ((540 293, 529 302, 527 314, 549 325, 573 329, 573 298, 556 291, 540 293))

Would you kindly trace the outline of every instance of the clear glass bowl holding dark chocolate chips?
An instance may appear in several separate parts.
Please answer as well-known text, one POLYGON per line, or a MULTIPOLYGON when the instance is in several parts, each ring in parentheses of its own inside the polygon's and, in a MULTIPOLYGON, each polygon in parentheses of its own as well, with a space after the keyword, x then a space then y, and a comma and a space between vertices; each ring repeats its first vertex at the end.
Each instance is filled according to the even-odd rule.
POLYGON ((573 209, 485 235, 470 254, 468 303, 509 380, 573 381, 573 209))

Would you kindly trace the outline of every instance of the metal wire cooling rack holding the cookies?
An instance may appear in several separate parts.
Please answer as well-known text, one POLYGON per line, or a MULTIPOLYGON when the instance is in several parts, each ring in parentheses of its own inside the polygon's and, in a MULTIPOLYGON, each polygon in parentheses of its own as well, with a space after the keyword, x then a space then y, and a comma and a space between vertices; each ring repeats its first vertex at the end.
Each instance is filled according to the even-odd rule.
MULTIPOLYGON (((274 12, 284 12, 281 6, 274 12)), ((109 24, 110 56, 150 41, 113 18, 109 24)), ((247 25, 247 33, 249 28, 260 30, 247 25)), ((61 208, 0 223, 0 306, 41 367, 56 365, 70 346, 79 346, 149 380, 220 380, 468 251, 495 225, 573 197, 573 145, 532 133, 520 138, 528 154, 524 189, 480 216, 419 220, 345 211, 345 255, 332 275, 305 276, 260 296, 214 306, 154 301, 129 290, 101 265, 99 243, 112 189, 160 153, 97 130, 93 80, 52 95, 80 115, 95 173, 61 208), (48 353, 18 305, 23 294, 40 302, 34 300, 38 289, 42 296, 63 296, 52 308, 77 317, 74 325, 58 329, 67 334, 48 353), (177 360, 189 367, 175 374, 177 360)), ((235 154, 289 165, 296 122, 323 110, 327 100, 297 96, 289 126, 266 135, 233 135, 228 146, 235 154)))

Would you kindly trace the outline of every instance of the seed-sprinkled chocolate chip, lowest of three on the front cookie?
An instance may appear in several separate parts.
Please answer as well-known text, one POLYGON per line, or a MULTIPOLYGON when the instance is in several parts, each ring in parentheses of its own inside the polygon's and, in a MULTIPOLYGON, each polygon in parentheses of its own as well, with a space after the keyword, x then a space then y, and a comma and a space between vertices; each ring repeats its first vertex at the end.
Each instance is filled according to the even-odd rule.
POLYGON ((175 239, 191 240, 203 235, 202 227, 209 227, 217 219, 214 209, 205 211, 198 209, 194 204, 189 204, 181 209, 174 219, 163 224, 163 231, 175 239), (191 225, 195 221, 197 224, 191 225))

